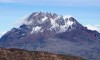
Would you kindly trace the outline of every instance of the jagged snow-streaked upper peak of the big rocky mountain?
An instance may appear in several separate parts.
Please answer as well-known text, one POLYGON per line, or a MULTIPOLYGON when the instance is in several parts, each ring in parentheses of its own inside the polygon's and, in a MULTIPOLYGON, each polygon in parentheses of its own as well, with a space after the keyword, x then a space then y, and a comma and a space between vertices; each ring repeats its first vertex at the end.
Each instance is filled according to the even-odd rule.
POLYGON ((32 13, 25 20, 26 25, 32 27, 32 32, 43 32, 44 30, 50 30, 56 33, 65 32, 67 30, 74 29, 79 23, 70 15, 58 15, 55 13, 32 13), (70 28, 70 29, 69 29, 70 28))

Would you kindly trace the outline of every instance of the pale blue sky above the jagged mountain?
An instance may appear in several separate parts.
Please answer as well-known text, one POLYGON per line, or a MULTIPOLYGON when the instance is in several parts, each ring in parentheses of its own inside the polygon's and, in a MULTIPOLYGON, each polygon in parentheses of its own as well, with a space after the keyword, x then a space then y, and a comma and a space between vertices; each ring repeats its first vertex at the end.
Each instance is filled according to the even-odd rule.
POLYGON ((0 31, 8 31, 32 12, 71 15, 83 25, 100 25, 100 0, 0 0, 0 31))

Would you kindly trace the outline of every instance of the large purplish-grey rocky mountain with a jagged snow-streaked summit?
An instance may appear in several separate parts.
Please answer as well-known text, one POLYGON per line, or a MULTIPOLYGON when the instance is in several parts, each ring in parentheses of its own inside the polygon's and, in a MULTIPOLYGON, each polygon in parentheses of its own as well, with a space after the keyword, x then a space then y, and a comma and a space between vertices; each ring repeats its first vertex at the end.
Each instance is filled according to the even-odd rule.
POLYGON ((19 28, 1 37, 0 47, 100 60, 100 33, 88 30, 71 16, 34 12, 19 28))

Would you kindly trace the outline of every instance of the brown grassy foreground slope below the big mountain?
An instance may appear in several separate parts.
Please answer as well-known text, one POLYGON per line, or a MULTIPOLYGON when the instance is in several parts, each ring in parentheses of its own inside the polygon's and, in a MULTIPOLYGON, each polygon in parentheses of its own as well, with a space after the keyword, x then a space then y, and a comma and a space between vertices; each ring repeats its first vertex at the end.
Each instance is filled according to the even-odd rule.
POLYGON ((47 52, 27 51, 21 49, 0 48, 0 60, 85 60, 81 57, 53 54, 47 52))

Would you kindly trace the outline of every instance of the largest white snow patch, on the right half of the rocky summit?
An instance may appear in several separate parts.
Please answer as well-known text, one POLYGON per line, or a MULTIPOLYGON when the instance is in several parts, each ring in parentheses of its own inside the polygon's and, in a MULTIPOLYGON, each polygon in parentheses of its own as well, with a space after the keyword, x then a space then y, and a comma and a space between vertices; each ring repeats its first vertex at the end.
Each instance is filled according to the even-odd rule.
MULTIPOLYGON (((61 17, 61 16, 60 16, 61 17)), ((59 16, 58 17, 56 17, 55 19, 50 19, 51 20, 51 25, 52 25, 52 27, 50 28, 50 30, 52 30, 52 29, 57 29, 57 33, 61 33, 61 32, 65 32, 65 31, 67 31, 68 30, 68 27, 69 26, 72 26, 73 25, 73 21, 70 21, 70 20, 65 20, 64 19, 64 25, 59 25, 58 23, 56 23, 56 20, 58 20, 59 18, 60 18, 59 16)), ((70 18, 70 17, 66 17, 66 18, 70 18)))

